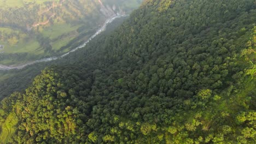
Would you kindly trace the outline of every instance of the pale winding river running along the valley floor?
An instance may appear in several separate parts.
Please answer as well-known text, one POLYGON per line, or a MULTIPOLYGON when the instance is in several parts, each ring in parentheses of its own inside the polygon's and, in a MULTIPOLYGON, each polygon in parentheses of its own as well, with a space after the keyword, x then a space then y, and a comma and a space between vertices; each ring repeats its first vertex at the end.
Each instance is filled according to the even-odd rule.
POLYGON ((0 70, 11 70, 11 69, 22 69, 28 65, 32 65, 32 64, 35 64, 35 63, 40 63, 40 62, 50 62, 50 61, 53 61, 53 60, 56 60, 56 59, 59 59, 59 58, 62 58, 62 57, 65 57, 67 55, 69 55, 69 53, 71 52, 74 52, 74 51, 77 51, 78 49, 81 49, 82 47, 84 47, 86 44, 89 43, 90 40, 92 40, 93 38, 96 37, 96 35, 100 34, 101 32, 103 32, 105 29, 106 29, 106 26, 108 25, 108 23, 111 23, 113 22, 115 19, 119 18, 119 17, 124 17, 126 15, 121 15, 121 14, 116 14, 112 17, 110 17, 109 19, 107 19, 103 26, 98 29, 98 31, 92 35, 88 40, 85 41, 84 44, 78 46, 78 47, 75 47, 73 50, 61 55, 61 56, 58 56, 58 57, 49 57, 49 58, 43 58, 43 59, 39 59, 37 61, 33 61, 33 62, 28 62, 26 64, 23 64, 23 65, 1 65, 0 64, 0 70))

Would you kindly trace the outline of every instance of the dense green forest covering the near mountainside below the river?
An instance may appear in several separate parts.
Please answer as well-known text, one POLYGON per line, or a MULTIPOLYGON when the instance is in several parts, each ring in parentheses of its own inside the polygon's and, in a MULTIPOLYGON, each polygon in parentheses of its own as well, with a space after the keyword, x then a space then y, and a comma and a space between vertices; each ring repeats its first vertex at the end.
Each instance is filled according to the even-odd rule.
POLYGON ((22 70, 48 66, 1 101, 0 141, 256 143, 255 8, 144 1, 83 49, 22 70))

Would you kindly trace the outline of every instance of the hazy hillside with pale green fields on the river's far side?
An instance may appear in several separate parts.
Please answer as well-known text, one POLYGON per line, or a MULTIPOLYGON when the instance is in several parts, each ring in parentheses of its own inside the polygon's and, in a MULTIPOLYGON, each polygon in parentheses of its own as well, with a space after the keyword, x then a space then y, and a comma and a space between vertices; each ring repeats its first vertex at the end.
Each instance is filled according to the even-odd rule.
POLYGON ((19 64, 67 52, 106 19, 129 13, 141 1, 1 1, 1 64, 19 64), (75 41, 75 42, 74 42, 75 41), (66 46, 67 45, 67 46, 66 46))

